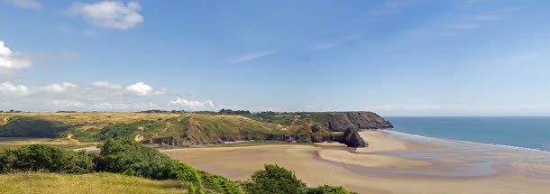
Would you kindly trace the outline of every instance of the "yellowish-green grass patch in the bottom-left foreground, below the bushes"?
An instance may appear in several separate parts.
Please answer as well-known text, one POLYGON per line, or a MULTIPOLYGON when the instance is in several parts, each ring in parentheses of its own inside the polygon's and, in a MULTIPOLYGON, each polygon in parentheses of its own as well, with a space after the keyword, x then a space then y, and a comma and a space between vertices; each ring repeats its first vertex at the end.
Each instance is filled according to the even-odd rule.
POLYGON ((23 172, 0 175, 0 193, 188 193, 180 180, 146 180, 113 173, 23 172))

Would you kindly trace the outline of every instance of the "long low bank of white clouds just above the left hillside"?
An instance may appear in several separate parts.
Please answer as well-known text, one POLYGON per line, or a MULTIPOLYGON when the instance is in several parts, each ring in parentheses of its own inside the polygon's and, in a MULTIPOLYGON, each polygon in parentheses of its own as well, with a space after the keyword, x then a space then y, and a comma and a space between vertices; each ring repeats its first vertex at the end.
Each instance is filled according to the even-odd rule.
MULTIPOLYGON (((166 91, 167 88, 156 90, 142 82, 124 88, 107 81, 96 81, 89 87, 70 82, 31 87, 6 81, 0 82, 0 107, 26 111, 173 109, 176 106, 161 96, 166 91)), ((213 105, 205 102, 204 106, 209 107, 209 104, 213 105)), ((193 102, 190 105, 197 106, 193 102)))

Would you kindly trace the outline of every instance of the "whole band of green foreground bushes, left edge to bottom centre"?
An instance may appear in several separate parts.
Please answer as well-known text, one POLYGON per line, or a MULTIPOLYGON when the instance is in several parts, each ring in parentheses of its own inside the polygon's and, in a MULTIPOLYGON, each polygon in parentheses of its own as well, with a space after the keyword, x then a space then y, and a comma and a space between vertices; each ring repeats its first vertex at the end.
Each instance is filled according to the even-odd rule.
POLYGON ((0 152, 0 173, 46 171, 82 174, 95 171, 122 173, 152 180, 182 180, 189 193, 349 194, 342 187, 307 188, 293 171, 265 165, 250 180, 234 182, 197 171, 159 151, 130 139, 108 139, 99 153, 73 152, 42 144, 23 145, 0 152))

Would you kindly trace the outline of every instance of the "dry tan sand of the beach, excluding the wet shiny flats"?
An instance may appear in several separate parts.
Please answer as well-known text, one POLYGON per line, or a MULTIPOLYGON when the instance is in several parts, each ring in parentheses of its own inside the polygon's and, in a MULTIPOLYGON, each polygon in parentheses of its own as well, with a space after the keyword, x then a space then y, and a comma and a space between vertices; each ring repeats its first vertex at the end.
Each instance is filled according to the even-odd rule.
MULTIPOLYGON (((469 163, 457 160, 410 160, 376 152, 412 151, 451 145, 410 143, 382 132, 362 132, 370 147, 357 153, 335 143, 309 145, 259 145, 248 147, 188 148, 164 150, 170 157, 199 170, 232 180, 247 180, 265 163, 276 163, 297 173, 308 186, 341 185, 359 193, 547 193, 550 180, 537 179, 507 168, 481 177, 430 177, 386 173, 414 169, 432 171, 432 165, 469 163), (374 169, 378 172, 362 171, 374 169), (381 173, 380 173, 381 171, 381 173)), ((461 153, 456 153, 461 155, 461 153)), ((518 164, 516 164, 518 165, 518 164)), ((500 169, 500 168, 495 168, 500 169)), ((449 170, 451 171, 451 170, 449 170)))

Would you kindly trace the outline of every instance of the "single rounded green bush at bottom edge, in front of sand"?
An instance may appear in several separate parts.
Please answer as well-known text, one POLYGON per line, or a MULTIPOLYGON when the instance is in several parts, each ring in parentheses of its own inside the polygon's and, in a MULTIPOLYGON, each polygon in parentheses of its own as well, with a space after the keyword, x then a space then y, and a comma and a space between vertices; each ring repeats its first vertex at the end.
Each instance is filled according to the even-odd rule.
POLYGON ((251 180, 243 184, 246 193, 304 193, 306 183, 298 180, 293 171, 278 165, 266 164, 264 170, 252 174, 251 180))

